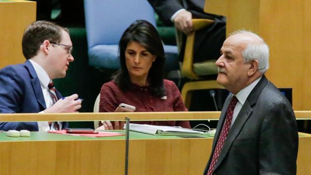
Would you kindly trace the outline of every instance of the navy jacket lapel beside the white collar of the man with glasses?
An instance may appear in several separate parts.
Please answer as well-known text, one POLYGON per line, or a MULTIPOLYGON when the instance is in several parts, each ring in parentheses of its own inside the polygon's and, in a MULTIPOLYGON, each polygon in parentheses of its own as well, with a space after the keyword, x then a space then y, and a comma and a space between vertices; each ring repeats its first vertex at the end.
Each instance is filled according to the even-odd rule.
POLYGON ((29 74, 30 74, 30 78, 31 78, 31 84, 33 86, 37 101, 39 102, 39 104, 41 105, 41 107, 43 107, 44 109, 46 109, 46 105, 45 105, 45 101, 44 101, 44 97, 43 97, 43 93, 42 93, 42 89, 41 89, 41 85, 40 85, 40 81, 39 78, 37 76, 37 73, 33 67, 33 65, 31 64, 31 62, 29 60, 27 60, 24 63, 24 66, 28 69, 29 74))

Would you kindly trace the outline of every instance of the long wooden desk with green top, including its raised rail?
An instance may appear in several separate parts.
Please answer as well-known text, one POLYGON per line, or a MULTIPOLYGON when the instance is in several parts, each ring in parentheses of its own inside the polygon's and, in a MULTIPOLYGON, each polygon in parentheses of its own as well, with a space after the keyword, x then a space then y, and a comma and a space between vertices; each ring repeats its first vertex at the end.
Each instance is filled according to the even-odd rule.
MULTIPOLYGON (((311 111, 295 111, 311 118, 311 111)), ((0 121, 214 119, 219 112, 0 114, 0 121)), ((91 138, 32 132, 30 138, 0 133, 1 175, 123 175, 124 136, 91 138), (44 173, 43 173, 44 172, 44 173)), ((201 175, 213 138, 130 133, 129 175, 201 175)), ((311 174, 311 134, 299 133, 297 175, 311 174)))

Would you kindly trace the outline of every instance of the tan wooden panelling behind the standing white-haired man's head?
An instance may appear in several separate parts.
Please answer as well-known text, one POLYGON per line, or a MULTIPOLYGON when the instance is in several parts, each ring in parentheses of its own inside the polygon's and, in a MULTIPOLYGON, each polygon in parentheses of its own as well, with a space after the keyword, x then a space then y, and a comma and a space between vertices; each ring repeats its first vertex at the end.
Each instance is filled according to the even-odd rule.
POLYGON ((294 110, 311 110, 310 0, 205 0, 204 11, 227 16, 227 34, 262 36, 270 46, 268 79, 293 88, 294 110))

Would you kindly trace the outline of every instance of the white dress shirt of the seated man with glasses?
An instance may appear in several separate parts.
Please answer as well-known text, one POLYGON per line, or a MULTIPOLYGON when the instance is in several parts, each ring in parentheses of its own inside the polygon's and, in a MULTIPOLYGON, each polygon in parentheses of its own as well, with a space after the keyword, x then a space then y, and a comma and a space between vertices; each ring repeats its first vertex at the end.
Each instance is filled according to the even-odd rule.
MULTIPOLYGON (((29 61, 34 66, 36 74, 39 78, 39 82, 40 82, 43 97, 44 97, 45 106, 47 109, 54 104, 53 98, 51 97, 50 92, 49 92, 50 89, 48 88, 50 78, 47 75, 47 73, 45 72, 45 70, 38 63, 36 63, 35 61, 33 61, 31 59, 29 59, 29 61)), ((44 112, 41 111, 39 113, 44 113, 44 112)), ((62 122, 58 122, 58 125, 60 128, 62 128, 62 122)), ((38 122, 38 128, 39 128, 39 131, 49 131, 49 130, 55 131, 55 130, 57 130, 55 122, 53 122, 51 124, 51 128, 50 128, 50 126, 48 125, 47 122, 40 121, 40 122, 38 122)))

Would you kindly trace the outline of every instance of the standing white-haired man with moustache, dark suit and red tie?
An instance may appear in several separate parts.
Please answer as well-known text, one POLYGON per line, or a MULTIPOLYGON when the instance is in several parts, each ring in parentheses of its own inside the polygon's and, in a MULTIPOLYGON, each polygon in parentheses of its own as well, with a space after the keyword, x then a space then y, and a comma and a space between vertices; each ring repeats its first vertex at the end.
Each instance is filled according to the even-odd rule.
POLYGON ((204 175, 296 175, 298 131, 293 109, 265 77, 269 47, 248 31, 223 44, 217 82, 230 94, 204 175))

